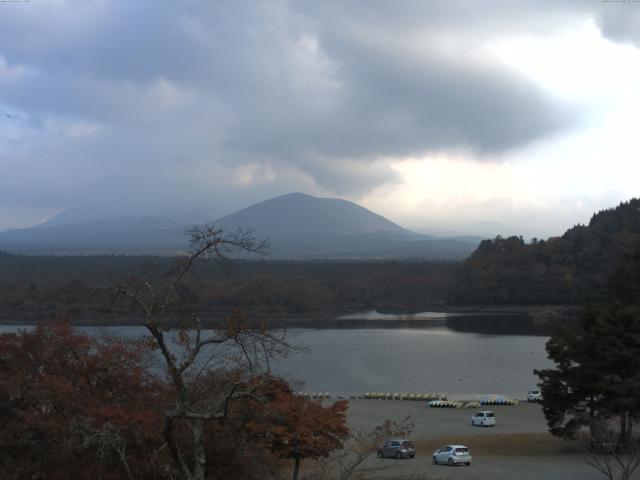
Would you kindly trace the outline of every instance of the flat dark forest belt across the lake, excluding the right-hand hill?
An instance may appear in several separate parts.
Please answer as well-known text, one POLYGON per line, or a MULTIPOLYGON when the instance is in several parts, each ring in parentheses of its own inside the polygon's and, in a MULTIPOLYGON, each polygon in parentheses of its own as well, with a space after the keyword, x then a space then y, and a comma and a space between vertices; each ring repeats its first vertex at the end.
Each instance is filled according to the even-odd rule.
MULTIPOLYGON (((53 257, 0 253, 0 321, 70 315, 104 322, 109 298, 98 288, 164 275, 168 257, 53 257)), ((271 316, 328 315, 353 309, 443 305, 455 263, 236 261, 228 271, 200 266, 185 282, 206 316, 242 309, 271 316)), ((116 312, 111 322, 129 322, 116 312)))

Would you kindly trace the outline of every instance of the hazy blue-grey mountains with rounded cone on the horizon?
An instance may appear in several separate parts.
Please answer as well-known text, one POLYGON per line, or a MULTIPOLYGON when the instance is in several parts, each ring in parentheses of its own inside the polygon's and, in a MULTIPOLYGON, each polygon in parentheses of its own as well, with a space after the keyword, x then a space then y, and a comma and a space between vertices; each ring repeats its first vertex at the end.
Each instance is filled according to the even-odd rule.
MULTIPOLYGON (((204 214, 192 212, 178 220, 135 216, 80 221, 86 212, 69 211, 36 227, 0 233, 0 248, 23 253, 175 253, 187 249, 184 231, 204 214)), ((253 229, 256 237, 270 240, 272 258, 460 259, 477 245, 468 239, 420 235, 356 203, 302 193, 206 223, 227 231, 253 229)))

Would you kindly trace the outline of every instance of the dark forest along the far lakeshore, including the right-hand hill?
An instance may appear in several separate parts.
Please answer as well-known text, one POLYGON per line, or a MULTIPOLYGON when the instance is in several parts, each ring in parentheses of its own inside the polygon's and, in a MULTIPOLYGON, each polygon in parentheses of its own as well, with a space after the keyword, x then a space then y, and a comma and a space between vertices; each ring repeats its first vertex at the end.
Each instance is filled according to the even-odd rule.
MULTIPOLYGON (((640 200, 593 215, 547 240, 480 243, 463 262, 235 260, 203 264, 182 288, 205 318, 240 309, 275 318, 328 317, 364 309, 583 305, 606 300, 606 283, 640 248, 640 200)), ((135 323, 102 295, 107 285, 153 278, 180 258, 26 256, 0 252, 0 321, 71 316, 79 323, 135 323), (109 313, 109 316, 107 316, 109 313)))

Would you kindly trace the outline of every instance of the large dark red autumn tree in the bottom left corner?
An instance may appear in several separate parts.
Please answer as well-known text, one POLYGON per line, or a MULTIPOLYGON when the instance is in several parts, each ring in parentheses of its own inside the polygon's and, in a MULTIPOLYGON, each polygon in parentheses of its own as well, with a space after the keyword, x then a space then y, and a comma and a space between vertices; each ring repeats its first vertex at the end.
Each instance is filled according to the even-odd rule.
POLYGON ((165 393, 140 342, 68 323, 0 335, 0 470, 14 479, 151 475, 165 393))

